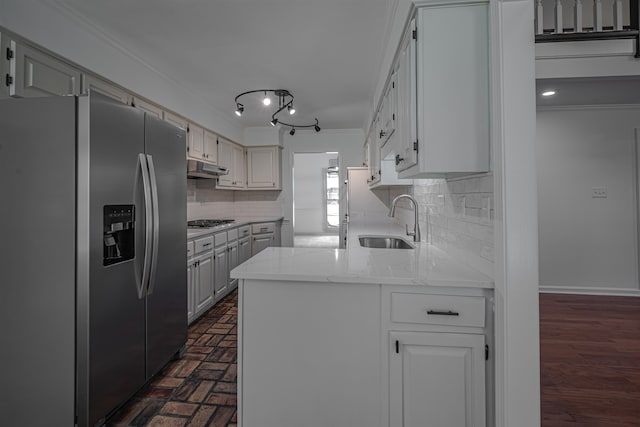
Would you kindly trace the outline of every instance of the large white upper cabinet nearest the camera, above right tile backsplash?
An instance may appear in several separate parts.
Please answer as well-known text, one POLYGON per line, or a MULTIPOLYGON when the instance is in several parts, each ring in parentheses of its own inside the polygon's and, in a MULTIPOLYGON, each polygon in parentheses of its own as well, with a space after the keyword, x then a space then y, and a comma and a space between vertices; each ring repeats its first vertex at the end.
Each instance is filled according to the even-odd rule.
MULTIPOLYGON (((400 177, 452 177, 487 172, 488 2, 419 7, 416 19, 416 33, 413 30, 410 33, 416 37, 418 134, 416 139, 403 135, 399 154, 405 163, 399 165, 400 177), (447 34, 446 39, 443 34, 447 34), (407 145, 414 141, 415 147, 407 145), (417 149, 415 165, 406 162, 409 148, 417 149)), ((405 71, 405 77, 406 74, 405 71)), ((410 99, 403 100, 407 101, 410 99)), ((411 101, 409 107, 401 108, 412 106, 411 101)), ((409 114, 408 119, 412 116, 409 114)), ((413 126, 407 129, 411 132, 413 126)))

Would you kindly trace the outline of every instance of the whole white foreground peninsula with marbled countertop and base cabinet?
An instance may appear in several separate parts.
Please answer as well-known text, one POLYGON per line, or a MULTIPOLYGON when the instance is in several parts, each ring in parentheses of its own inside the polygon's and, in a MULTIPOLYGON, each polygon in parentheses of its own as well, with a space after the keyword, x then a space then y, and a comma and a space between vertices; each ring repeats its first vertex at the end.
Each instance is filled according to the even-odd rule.
POLYGON ((231 272, 239 425, 492 424, 493 282, 426 243, 358 242, 403 234, 350 225, 346 249, 268 248, 231 272))

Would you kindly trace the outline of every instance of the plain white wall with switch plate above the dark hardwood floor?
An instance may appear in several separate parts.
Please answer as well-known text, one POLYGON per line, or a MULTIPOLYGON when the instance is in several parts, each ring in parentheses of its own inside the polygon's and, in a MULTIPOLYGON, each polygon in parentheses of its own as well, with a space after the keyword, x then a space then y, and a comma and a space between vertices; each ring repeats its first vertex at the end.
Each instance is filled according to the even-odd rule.
POLYGON ((638 290, 636 127, 640 108, 538 111, 541 288, 638 290))

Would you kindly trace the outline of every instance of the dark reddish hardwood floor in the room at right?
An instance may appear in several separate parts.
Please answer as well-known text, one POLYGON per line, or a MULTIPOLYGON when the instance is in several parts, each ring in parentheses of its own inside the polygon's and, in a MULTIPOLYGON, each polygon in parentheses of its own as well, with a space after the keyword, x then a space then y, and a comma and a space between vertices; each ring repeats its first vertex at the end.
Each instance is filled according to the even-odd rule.
POLYGON ((640 298, 540 295, 542 427, 640 426, 640 298))

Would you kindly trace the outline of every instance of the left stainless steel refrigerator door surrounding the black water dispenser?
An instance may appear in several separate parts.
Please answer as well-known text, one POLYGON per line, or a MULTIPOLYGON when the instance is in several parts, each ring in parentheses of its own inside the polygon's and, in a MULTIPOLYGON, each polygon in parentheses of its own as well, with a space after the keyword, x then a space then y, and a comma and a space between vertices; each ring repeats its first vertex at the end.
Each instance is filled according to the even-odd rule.
POLYGON ((145 301, 136 280, 146 249, 144 113, 91 94, 79 99, 78 116, 78 421, 93 426, 146 380, 145 301), (105 265, 112 212, 105 207, 114 205, 133 205, 134 254, 105 265))

